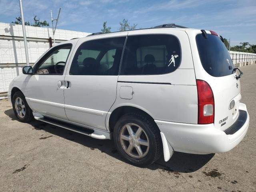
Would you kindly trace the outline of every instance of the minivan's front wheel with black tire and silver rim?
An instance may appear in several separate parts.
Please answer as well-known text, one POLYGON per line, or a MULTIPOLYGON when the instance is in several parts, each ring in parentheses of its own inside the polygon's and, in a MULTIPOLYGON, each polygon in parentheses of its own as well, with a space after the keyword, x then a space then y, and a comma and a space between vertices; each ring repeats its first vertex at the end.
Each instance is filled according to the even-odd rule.
POLYGON ((15 92, 12 96, 12 109, 20 122, 30 122, 34 119, 32 110, 26 102, 22 92, 15 92))

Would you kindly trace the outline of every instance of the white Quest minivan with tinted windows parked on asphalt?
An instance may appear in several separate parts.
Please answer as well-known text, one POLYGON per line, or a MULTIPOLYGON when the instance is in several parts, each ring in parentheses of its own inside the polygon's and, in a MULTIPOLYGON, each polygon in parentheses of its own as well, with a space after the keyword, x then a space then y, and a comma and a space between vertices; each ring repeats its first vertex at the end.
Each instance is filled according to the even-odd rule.
POLYGON ((18 120, 113 139, 137 166, 174 151, 227 152, 248 130, 242 72, 213 31, 164 24, 90 34, 22 71, 8 91, 18 120))

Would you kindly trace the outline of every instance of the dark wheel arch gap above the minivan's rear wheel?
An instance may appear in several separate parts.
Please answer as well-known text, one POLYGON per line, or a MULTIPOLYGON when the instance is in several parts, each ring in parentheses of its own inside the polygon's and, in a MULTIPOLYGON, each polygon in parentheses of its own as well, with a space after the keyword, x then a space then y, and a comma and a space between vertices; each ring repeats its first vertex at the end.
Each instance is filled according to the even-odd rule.
POLYGON ((116 122, 118 121, 118 119, 121 116, 123 116, 124 114, 127 114, 127 113, 142 114, 144 116, 147 116, 150 120, 152 120, 152 122, 154 122, 154 124, 156 124, 156 122, 154 121, 154 118, 148 112, 146 112, 143 109, 140 109, 140 108, 135 107, 135 106, 128 106, 128 105, 119 106, 111 112, 110 117, 108 118, 107 122, 108 122, 108 128, 109 128, 110 132, 113 132, 114 126, 115 126, 116 122))

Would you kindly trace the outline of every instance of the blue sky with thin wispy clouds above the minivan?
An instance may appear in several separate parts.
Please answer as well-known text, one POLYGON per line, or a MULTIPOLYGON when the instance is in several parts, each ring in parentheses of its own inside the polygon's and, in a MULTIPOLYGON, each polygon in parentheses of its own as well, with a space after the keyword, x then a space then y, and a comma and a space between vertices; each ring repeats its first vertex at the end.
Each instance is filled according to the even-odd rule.
MULTIPOLYGON (((189 28, 213 30, 229 39, 256 44, 256 0, 22 0, 25 21, 37 15, 51 26, 50 10, 57 28, 100 32, 104 21, 117 31, 128 19, 137 28, 175 23, 189 28)), ((10 23, 20 16, 18 0, 0 0, 0 22, 10 23)))

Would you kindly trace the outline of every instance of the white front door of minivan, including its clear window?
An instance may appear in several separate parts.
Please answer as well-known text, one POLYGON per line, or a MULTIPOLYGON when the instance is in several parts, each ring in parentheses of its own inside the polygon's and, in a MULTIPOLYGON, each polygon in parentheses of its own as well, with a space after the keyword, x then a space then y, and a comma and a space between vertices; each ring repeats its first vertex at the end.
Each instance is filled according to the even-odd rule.
POLYGON ((50 49, 26 79, 26 100, 34 112, 67 119, 64 110, 64 69, 72 44, 50 49))

